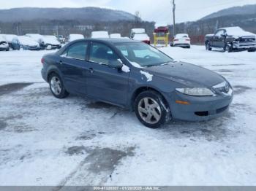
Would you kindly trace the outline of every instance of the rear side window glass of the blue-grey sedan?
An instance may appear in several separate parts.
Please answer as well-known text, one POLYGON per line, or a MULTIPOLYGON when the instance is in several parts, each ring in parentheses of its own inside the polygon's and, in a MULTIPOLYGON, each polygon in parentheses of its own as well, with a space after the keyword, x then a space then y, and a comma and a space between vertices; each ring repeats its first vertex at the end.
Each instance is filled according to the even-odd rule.
POLYGON ((77 42, 72 44, 65 50, 61 56, 66 56, 67 58, 75 58, 78 60, 86 60, 86 50, 88 47, 87 42, 77 42))

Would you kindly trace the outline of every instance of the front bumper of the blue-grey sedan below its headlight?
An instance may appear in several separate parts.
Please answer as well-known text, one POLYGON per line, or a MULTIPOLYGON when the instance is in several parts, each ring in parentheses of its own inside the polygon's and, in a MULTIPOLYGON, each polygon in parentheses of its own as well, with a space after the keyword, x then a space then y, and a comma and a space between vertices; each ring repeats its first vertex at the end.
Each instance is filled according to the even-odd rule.
POLYGON ((233 93, 197 97, 175 91, 169 97, 168 102, 173 119, 186 121, 205 121, 221 117, 228 111, 233 101, 233 93), (176 101, 187 101, 189 104, 177 104, 176 101))

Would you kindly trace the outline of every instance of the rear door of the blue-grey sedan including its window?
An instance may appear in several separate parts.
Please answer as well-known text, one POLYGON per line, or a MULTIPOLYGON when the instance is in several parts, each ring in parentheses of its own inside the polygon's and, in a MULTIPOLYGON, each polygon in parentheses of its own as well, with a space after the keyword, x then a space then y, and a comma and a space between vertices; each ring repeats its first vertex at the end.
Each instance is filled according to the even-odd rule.
POLYGON ((70 92, 86 94, 88 44, 89 42, 76 42, 61 54, 59 69, 64 76, 64 85, 70 92))

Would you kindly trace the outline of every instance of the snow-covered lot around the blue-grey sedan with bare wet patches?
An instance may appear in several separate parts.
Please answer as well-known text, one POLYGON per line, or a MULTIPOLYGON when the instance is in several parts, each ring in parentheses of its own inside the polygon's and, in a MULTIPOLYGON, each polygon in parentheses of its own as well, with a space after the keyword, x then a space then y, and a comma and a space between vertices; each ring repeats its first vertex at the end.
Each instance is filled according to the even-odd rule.
POLYGON ((116 106, 54 98, 48 51, 0 52, 0 185, 256 185, 256 52, 161 50, 224 75, 230 112, 148 129, 116 106))

